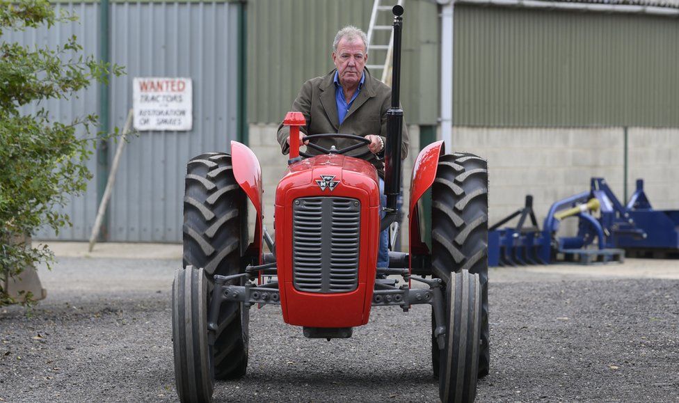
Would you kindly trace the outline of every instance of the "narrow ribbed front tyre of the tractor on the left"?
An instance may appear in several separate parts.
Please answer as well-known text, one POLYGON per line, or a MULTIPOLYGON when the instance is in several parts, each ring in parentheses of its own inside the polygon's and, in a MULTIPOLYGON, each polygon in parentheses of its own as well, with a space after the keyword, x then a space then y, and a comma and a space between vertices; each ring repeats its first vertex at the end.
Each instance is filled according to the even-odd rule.
POLYGON ((207 342, 207 303, 203 269, 177 269, 172 283, 172 340, 181 402, 212 401, 214 372, 212 347, 207 342))

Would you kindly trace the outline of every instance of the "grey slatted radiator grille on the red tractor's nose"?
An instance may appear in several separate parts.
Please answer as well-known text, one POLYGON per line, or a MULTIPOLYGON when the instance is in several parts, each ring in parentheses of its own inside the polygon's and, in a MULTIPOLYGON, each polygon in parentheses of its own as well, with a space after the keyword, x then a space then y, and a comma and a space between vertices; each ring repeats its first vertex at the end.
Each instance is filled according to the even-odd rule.
POLYGON ((294 286, 305 292, 350 292, 358 287, 360 202, 298 198, 293 208, 294 286))

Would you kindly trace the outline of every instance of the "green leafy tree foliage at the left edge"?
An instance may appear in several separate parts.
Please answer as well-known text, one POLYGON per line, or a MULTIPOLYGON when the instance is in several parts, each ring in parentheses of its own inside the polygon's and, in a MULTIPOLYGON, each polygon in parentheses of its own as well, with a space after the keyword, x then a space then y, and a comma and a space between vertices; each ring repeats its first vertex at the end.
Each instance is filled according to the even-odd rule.
MULTIPOLYGON (((74 22, 70 13, 56 13, 47 0, 0 0, 0 38, 6 31, 74 22)), ((102 136, 77 136, 96 127, 97 116, 58 122, 42 104, 67 100, 94 82, 106 82, 109 74, 122 74, 118 65, 83 56, 73 36, 56 49, 0 44, 0 306, 13 301, 3 289, 4 279, 25 267, 54 256, 45 245, 24 241, 40 226, 58 232, 70 225, 55 207, 82 194, 92 174, 86 162, 93 144, 102 136), (38 105, 27 113, 21 106, 38 105)), ((104 136, 105 137, 105 136, 104 136)))

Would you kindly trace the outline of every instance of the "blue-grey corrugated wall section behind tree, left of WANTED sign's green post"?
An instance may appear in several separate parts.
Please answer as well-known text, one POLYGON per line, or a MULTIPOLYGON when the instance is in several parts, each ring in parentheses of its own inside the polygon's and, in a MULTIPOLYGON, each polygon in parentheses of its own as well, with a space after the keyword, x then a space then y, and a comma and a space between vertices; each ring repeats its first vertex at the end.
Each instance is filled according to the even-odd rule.
MULTIPOLYGON (((97 25, 99 24, 99 6, 96 3, 62 3, 55 6, 57 12, 63 8, 79 15, 79 23, 56 24, 51 29, 41 26, 38 29, 26 29, 26 31, 6 31, 1 40, 6 42, 18 42, 21 45, 36 45, 38 47, 47 46, 56 49, 58 45, 63 45, 68 38, 76 35, 78 42, 83 47, 84 54, 96 55, 99 49, 97 35, 97 25)), ((78 116, 86 116, 90 113, 99 113, 99 90, 97 85, 92 85, 77 94, 70 100, 49 100, 40 106, 26 106, 23 111, 35 113, 38 108, 45 108, 50 116, 63 123, 71 122, 78 116)), ((87 134, 79 128, 78 136, 94 136, 87 134)), ((96 161, 93 157, 87 163, 88 169, 96 175, 96 161)), ((38 239, 88 239, 90 231, 97 216, 97 178, 90 181, 90 186, 83 196, 74 198, 65 208, 58 209, 70 216, 73 223, 72 227, 64 227, 58 235, 54 230, 43 228, 34 234, 38 239)))

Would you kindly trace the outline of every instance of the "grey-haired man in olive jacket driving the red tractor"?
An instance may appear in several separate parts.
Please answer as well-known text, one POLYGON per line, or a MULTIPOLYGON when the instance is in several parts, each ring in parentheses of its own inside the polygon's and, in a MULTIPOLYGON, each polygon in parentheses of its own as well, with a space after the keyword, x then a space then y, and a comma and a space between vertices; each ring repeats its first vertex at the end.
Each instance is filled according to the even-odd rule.
MULTIPOLYGON (((384 145, 387 136, 387 110, 392 90, 372 77, 365 68, 368 60, 367 38, 356 26, 345 26, 333 41, 335 69, 328 74, 307 80, 292 104, 293 111, 303 113, 306 125, 301 127, 300 143, 304 136, 321 133, 346 133, 363 136, 370 141, 365 149, 348 152, 377 168, 380 177, 381 203, 384 206, 384 145)), ((340 149, 356 143, 352 139, 313 139, 325 148, 340 149)), ((308 142, 308 141, 307 141, 308 142)), ((278 143, 283 154, 289 152, 289 127, 278 127, 278 143)), ((313 150, 310 153, 316 154, 313 150)), ((408 155, 408 132, 403 127, 401 159, 408 155)), ((389 267, 388 230, 380 235, 377 267, 389 267)))

